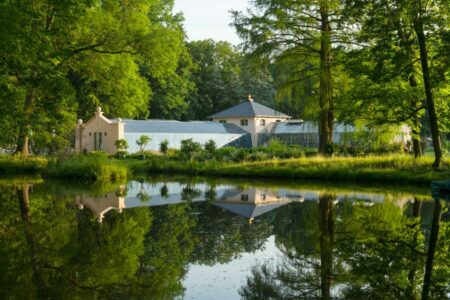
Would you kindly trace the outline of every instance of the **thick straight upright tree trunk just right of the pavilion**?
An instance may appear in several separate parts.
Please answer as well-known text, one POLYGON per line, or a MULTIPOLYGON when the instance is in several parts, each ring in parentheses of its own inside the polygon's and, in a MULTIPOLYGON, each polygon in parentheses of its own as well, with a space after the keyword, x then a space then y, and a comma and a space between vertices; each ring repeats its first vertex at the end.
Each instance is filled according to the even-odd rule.
POLYGON ((333 141, 334 121, 331 82, 331 26, 328 10, 328 2, 321 2, 319 153, 322 154, 326 152, 327 144, 333 141))

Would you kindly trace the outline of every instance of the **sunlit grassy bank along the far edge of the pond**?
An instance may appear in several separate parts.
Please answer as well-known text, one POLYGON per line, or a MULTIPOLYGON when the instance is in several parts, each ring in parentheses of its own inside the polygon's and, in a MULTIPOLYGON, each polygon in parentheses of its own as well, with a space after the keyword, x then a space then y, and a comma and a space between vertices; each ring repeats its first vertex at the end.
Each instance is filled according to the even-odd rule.
POLYGON ((0 174, 41 174, 45 178, 114 181, 132 174, 180 174, 240 178, 324 180, 331 182, 423 184, 450 178, 450 168, 431 168, 432 157, 407 155, 303 157, 256 162, 183 161, 163 156, 114 159, 104 154, 64 158, 0 157, 0 174))

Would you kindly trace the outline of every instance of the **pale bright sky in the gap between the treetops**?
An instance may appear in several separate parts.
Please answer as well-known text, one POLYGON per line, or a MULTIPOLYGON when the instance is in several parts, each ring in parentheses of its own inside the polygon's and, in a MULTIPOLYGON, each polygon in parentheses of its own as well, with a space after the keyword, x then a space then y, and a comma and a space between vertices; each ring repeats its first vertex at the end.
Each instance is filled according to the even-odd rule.
POLYGON ((174 12, 183 12, 189 41, 211 38, 238 45, 230 10, 245 11, 247 6, 248 0, 175 0, 174 12))

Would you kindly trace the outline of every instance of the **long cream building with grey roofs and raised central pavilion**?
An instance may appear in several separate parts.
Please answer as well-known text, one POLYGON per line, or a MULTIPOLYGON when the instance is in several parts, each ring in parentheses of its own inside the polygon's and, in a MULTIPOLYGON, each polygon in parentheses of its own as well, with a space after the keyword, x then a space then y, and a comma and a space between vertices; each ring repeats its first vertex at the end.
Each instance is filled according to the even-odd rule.
MULTIPOLYGON (((209 116, 211 121, 181 122, 176 120, 108 119, 98 108, 93 118, 78 121, 76 150, 78 152, 105 151, 115 153, 118 139, 127 141, 130 153, 139 151, 136 141, 141 135, 151 138, 146 150, 158 151, 162 141, 169 148, 179 149, 181 141, 192 139, 204 145, 213 140, 218 148, 257 147, 267 145, 271 139, 284 144, 316 148, 319 143, 317 122, 291 120, 291 117, 253 101, 247 101, 209 116)), ((352 125, 335 122, 333 142, 357 143, 356 129, 352 125)), ((401 126, 393 142, 406 145, 411 140, 411 130, 401 126)))

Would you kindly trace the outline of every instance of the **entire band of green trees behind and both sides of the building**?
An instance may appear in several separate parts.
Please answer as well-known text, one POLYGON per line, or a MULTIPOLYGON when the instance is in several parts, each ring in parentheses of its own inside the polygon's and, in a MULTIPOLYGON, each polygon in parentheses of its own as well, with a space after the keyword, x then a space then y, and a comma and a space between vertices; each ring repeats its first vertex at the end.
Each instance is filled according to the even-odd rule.
POLYGON ((205 119, 252 94, 318 120, 406 123, 435 167, 448 132, 447 1, 255 0, 233 12, 243 43, 187 42, 173 1, 0 3, 0 148, 70 144, 77 118, 205 119), (32 137, 30 139, 30 137, 32 137))

